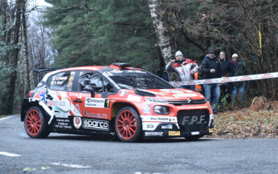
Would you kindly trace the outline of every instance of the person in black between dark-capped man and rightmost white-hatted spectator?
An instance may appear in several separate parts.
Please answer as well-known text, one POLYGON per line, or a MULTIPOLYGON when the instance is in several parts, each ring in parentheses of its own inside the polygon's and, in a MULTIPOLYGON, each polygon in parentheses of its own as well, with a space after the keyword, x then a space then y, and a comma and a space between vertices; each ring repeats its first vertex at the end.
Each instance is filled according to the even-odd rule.
MULTIPOLYGON (((223 51, 220 52, 220 75, 221 77, 234 76, 234 65, 227 60, 226 54, 223 51)), ((229 83, 226 82, 220 84, 220 90, 221 90, 222 97, 226 97, 227 102, 231 102, 231 91, 234 90, 233 82, 229 82, 229 83)))

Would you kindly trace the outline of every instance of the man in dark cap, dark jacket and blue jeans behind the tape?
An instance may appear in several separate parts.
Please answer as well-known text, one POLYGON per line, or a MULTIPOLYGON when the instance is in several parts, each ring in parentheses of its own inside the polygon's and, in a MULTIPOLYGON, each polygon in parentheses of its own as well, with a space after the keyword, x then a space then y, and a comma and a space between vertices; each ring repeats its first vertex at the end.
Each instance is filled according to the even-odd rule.
MULTIPOLYGON (((215 56, 215 50, 208 48, 208 54, 202 61, 203 79, 214 79, 220 76, 220 63, 215 56)), ((220 84, 204 84, 204 95, 208 102, 211 102, 211 91, 213 93, 212 109, 213 113, 217 113, 217 106, 220 98, 220 84)))

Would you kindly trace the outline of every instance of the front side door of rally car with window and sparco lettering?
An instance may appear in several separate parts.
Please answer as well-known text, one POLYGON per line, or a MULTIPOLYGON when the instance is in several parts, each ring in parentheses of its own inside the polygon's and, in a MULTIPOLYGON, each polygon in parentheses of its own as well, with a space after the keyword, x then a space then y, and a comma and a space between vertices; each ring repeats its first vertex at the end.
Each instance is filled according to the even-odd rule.
POLYGON ((94 129, 99 131, 110 130, 111 100, 103 98, 101 94, 113 89, 113 86, 97 72, 79 72, 79 105, 83 116, 83 129, 94 129), (95 96, 91 96, 88 88, 92 88, 95 96))

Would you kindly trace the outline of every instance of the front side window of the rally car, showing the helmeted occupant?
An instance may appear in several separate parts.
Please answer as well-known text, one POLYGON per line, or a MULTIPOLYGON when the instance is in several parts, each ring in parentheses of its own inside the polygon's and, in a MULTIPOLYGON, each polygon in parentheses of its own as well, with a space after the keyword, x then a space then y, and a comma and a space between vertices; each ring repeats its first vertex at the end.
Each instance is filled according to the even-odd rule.
POLYGON ((113 91, 113 86, 95 72, 80 72, 79 90, 85 92, 85 86, 91 86, 94 88, 95 93, 113 91))

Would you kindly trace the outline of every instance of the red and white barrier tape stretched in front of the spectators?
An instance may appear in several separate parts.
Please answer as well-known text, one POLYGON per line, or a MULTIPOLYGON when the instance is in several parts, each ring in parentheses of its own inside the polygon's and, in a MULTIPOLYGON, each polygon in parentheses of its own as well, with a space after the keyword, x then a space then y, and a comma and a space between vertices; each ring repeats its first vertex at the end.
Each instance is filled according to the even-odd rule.
POLYGON ((169 83, 174 87, 179 87, 181 85, 197 85, 197 84, 218 84, 224 82, 233 82, 233 81, 249 81, 249 80, 258 80, 258 79, 272 79, 277 78, 278 72, 271 72, 266 74, 254 74, 246 76, 236 76, 236 77, 222 77, 216 79, 204 79, 204 80, 190 80, 190 81, 170 81, 169 83))

